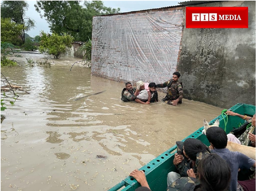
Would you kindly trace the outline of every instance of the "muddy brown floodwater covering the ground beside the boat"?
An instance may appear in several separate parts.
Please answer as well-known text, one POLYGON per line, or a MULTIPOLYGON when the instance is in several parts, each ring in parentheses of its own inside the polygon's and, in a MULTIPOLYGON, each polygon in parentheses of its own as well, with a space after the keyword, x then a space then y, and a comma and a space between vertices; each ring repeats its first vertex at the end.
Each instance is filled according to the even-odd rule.
MULTIPOLYGON (((21 55, 15 59, 23 64, 43 57, 21 55)), ((186 99, 178 106, 122 102, 123 83, 91 76, 79 63, 69 71, 76 58, 53 61, 51 68, 1 68, 30 92, 17 91, 14 106, 1 112, 4 191, 108 190, 222 111, 186 99)))

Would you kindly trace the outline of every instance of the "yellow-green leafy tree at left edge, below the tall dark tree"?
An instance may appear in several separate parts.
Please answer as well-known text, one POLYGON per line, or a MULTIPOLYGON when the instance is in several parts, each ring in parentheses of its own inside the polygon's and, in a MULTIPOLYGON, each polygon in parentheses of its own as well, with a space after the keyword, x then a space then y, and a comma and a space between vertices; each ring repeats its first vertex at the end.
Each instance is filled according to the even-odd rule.
POLYGON ((23 25, 17 24, 11 18, 1 18, 1 41, 13 42, 22 34, 23 25))

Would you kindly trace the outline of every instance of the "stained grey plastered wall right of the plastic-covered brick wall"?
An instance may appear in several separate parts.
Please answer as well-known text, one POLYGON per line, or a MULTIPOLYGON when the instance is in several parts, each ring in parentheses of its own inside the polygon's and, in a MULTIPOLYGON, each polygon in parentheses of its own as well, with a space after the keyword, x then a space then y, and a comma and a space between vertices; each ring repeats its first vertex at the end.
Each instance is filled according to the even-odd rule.
POLYGON ((225 108, 255 105, 255 1, 197 6, 248 7, 249 27, 184 28, 177 66, 184 97, 225 108))

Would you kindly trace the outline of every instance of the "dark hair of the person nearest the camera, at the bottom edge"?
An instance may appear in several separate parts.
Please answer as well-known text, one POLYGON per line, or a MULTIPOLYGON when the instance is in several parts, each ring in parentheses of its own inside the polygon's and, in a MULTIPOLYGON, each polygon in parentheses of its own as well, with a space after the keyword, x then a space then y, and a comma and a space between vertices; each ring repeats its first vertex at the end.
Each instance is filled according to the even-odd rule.
POLYGON ((226 191, 231 179, 227 162, 218 154, 207 154, 199 161, 197 172, 202 191, 226 191))

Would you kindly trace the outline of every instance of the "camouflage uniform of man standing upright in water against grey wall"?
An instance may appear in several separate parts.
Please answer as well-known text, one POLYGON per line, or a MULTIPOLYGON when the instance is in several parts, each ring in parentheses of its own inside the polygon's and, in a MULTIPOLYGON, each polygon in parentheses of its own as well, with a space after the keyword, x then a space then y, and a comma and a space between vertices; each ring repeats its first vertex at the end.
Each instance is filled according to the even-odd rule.
POLYGON ((165 98, 162 99, 163 102, 167 104, 172 104, 173 100, 180 99, 178 103, 181 103, 181 99, 183 98, 183 89, 182 82, 176 81, 173 83, 173 80, 166 81, 163 84, 157 84, 157 88, 165 88, 168 87, 165 98))

